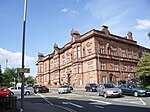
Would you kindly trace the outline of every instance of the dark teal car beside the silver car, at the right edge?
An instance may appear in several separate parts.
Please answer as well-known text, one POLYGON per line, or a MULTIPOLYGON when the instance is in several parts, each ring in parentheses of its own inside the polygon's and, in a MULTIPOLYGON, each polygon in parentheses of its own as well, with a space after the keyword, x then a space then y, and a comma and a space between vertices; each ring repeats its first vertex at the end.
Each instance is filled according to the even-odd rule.
POLYGON ((138 87, 135 84, 123 84, 119 87, 122 90, 122 94, 124 95, 133 95, 137 96, 150 96, 150 89, 138 87))

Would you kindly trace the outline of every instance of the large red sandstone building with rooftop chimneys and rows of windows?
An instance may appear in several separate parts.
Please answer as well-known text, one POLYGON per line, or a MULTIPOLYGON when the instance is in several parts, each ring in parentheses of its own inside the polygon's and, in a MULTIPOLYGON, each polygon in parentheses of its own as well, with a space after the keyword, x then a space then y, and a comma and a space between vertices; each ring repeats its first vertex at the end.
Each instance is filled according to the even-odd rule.
POLYGON ((55 44, 51 54, 38 53, 37 84, 84 87, 87 83, 130 80, 141 54, 150 53, 137 45, 131 32, 121 37, 111 34, 107 26, 83 35, 72 30, 71 37, 62 48, 55 44))

